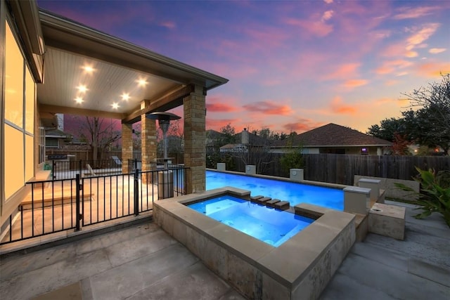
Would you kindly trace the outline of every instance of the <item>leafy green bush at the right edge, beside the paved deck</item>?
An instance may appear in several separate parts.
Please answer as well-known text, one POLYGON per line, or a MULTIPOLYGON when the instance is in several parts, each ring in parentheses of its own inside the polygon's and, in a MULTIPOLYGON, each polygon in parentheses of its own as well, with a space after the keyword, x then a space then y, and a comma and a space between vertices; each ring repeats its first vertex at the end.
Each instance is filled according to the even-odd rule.
POLYGON ((414 178, 420 183, 420 192, 417 193, 412 188, 401 183, 395 183, 397 188, 418 194, 416 204, 423 212, 414 216, 416 219, 423 219, 437 212, 444 216, 444 221, 450 227, 450 171, 439 171, 429 169, 428 171, 416 167, 419 178, 414 178))

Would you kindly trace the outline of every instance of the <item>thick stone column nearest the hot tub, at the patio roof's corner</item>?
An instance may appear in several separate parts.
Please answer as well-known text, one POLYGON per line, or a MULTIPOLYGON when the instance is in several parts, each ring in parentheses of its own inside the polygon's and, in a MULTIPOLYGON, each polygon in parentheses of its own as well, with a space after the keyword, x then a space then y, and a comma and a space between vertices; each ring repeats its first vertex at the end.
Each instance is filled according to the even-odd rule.
POLYGON ((186 193, 205 191, 205 95, 203 87, 183 99, 184 105, 184 164, 189 169, 186 176, 186 193))

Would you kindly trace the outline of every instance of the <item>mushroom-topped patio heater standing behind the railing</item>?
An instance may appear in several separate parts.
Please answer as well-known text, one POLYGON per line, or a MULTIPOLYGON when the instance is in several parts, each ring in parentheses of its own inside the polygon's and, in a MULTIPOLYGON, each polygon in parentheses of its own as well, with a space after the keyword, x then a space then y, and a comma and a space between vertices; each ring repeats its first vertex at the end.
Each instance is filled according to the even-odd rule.
POLYGON ((170 121, 180 119, 181 117, 172 114, 172 112, 152 112, 146 115, 146 117, 148 119, 157 119, 162 130, 164 169, 158 172, 158 199, 174 197, 174 177, 172 170, 167 169, 167 162, 169 160, 167 157, 167 130, 169 129, 170 121))

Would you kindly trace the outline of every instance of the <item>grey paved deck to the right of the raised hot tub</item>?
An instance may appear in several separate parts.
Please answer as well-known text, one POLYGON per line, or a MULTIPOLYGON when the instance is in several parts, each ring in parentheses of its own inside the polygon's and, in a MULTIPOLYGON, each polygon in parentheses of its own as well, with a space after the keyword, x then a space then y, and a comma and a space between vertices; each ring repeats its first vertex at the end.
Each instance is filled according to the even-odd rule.
POLYGON ((406 207, 405 240, 369 233, 354 244, 321 299, 450 299, 450 229, 406 207))

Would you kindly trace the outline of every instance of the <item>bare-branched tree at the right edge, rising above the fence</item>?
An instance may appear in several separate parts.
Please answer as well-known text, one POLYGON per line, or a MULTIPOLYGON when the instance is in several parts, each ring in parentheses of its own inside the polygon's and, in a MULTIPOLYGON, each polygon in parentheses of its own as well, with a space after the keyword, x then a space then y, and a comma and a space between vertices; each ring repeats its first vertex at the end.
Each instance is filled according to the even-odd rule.
POLYGON ((450 149, 450 74, 442 74, 440 83, 433 82, 412 93, 404 93, 410 110, 404 120, 418 143, 440 146, 447 155, 450 149))

